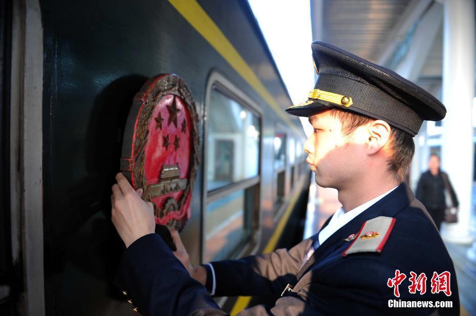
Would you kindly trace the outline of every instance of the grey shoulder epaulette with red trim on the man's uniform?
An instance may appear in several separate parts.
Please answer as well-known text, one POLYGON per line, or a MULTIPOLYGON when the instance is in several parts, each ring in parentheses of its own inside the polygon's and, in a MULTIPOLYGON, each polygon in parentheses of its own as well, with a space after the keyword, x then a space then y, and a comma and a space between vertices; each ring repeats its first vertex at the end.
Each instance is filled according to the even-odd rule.
POLYGON ((357 237, 346 249, 342 256, 354 253, 374 252, 381 253, 385 242, 394 228, 395 218, 379 216, 363 223, 357 237))

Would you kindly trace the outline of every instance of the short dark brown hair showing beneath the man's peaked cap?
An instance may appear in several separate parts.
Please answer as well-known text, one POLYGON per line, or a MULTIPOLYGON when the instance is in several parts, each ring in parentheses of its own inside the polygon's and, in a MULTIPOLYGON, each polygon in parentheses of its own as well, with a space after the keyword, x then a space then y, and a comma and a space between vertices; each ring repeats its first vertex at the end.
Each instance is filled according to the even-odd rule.
MULTIPOLYGON (((338 118, 342 124, 342 134, 346 137, 357 129, 357 127, 375 121, 375 119, 343 111, 336 108, 331 109, 331 115, 338 118)), ((396 179, 402 182, 405 173, 413 159, 415 153, 415 143, 413 137, 401 129, 391 127, 390 132, 391 155, 388 159, 388 171, 395 174, 396 179)))

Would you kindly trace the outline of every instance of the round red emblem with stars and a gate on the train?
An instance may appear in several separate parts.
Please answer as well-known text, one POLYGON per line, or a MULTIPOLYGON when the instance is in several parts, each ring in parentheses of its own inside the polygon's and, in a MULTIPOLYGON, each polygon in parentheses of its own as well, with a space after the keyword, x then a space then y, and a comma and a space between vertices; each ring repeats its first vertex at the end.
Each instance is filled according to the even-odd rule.
POLYGON ((198 115, 188 86, 177 75, 150 78, 127 118, 121 170, 153 202, 158 224, 183 229, 198 165, 198 115))

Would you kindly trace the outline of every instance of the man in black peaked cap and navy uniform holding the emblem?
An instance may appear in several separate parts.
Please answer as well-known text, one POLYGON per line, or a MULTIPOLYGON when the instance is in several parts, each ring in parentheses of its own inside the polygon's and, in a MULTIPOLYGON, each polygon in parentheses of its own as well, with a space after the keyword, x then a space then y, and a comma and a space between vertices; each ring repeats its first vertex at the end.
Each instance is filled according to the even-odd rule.
POLYGON ((154 233, 151 205, 117 174, 112 221, 127 247, 118 276, 142 315, 226 315, 212 296, 264 294, 274 306, 240 315, 459 314, 451 258, 404 181, 413 137, 423 120, 443 119, 445 107, 330 44, 314 42, 312 53, 315 88, 286 111, 309 117, 306 162, 319 186, 338 190, 342 208, 290 250, 192 266, 178 233, 172 253, 154 233))

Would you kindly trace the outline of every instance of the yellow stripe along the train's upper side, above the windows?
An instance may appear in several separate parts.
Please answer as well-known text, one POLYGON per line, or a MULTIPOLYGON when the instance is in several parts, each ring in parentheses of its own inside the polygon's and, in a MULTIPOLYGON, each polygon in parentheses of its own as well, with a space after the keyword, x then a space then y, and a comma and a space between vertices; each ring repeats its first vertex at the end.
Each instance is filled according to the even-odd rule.
POLYGON ((291 128, 297 133, 301 132, 297 129, 296 125, 290 121, 287 114, 279 107, 276 100, 268 92, 253 70, 251 70, 251 67, 246 63, 240 53, 236 51, 228 38, 226 38, 220 28, 213 22, 196 0, 169 0, 169 2, 291 128))

